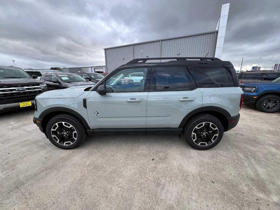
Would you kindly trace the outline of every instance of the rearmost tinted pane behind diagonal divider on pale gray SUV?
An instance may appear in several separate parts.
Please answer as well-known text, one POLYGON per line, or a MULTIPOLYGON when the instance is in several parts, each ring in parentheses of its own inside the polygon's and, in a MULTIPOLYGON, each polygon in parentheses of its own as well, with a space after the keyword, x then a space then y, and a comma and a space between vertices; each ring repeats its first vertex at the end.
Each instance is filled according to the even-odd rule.
POLYGON ((230 71, 226 68, 201 68, 201 70, 221 87, 234 87, 230 71))

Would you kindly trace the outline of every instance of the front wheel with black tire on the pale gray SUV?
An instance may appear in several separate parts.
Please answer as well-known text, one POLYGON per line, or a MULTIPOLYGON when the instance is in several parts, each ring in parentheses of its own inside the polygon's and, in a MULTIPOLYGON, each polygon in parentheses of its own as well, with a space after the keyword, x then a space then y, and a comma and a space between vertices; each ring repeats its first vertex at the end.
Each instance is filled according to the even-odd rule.
POLYGON ((80 146, 80 144, 83 143, 87 137, 86 130, 81 121, 69 114, 60 114, 53 117, 47 124, 46 133, 50 142, 61 149, 74 149, 80 146), (54 128, 55 130, 52 131, 52 128, 54 128), (66 137, 64 137, 63 135, 64 128, 64 132, 68 132, 69 130, 69 133, 65 135, 66 137), (52 135, 52 132, 54 134, 56 130, 58 130, 58 132, 60 132, 61 130, 61 135, 52 135), (56 138, 55 136, 58 137, 56 138), (67 136, 69 136, 69 138, 67 136), (59 140, 59 138, 61 138, 61 140, 59 140), (57 142, 57 140, 59 141, 59 143, 57 142), (66 145, 63 145, 62 143, 66 145))

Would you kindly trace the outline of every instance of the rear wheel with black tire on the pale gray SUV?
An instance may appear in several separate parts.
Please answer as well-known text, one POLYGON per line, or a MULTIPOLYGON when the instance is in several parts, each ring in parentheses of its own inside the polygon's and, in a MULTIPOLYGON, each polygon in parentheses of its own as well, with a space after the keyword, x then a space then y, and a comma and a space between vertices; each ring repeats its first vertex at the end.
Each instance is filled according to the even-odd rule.
POLYGON ((183 130, 184 138, 186 139, 189 146, 193 147, 194 149, 200 150, 211 149, 212 147, 216 146, 221 141, 223 134, 224 128, 221 121, 210 114, 199 114, 193 117, 188 121, 183 130), (201 125, 203 125, 203 123, 204 126, 200 127, 201 125), (204 132, 204 129, 207 128, 207 125, 208 129, 206 129, 206 131, 204 132), (200 130, 196 129, 196 126, 198 126, 200 130, 203 130, 203 133, 201 133, 200 135, 203 135, 205 133, 206 136, 196 136, 196 134, 193 134, 193 131, 200 133, 200 130), (201 139, 200 142, 199 138, 201 139), (196 142, 198 142, 200 145, 194 142, 193 139, 196 139, 196 142), (207 141, 207 139, 213 139, 212 143, 210 143, 210 141, 207 141), (203 145, 204 141, 205 145, 203 145))

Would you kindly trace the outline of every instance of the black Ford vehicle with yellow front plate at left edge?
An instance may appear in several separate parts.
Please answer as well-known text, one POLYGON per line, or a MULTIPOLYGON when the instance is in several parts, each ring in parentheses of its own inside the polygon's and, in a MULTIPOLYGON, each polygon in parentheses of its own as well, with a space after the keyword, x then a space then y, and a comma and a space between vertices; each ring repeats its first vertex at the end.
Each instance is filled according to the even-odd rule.
POLYGON ((35 96, 47 90, 36 78, 21 68, 0 66, 0 113, 34 106, 35 96))

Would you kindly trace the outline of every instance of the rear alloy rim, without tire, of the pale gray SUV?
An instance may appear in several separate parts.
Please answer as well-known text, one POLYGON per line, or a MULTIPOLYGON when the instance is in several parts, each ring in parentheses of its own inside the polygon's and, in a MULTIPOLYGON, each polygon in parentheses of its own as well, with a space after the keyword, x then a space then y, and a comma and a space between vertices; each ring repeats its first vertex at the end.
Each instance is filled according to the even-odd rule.
POLYGON ((218 127, 214 123, 199 123, 192 132, 193 142, 199 146, 212 144, 219 136, 218 127))

